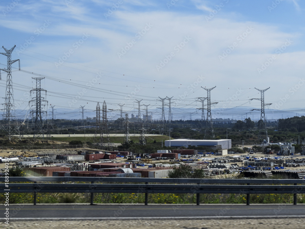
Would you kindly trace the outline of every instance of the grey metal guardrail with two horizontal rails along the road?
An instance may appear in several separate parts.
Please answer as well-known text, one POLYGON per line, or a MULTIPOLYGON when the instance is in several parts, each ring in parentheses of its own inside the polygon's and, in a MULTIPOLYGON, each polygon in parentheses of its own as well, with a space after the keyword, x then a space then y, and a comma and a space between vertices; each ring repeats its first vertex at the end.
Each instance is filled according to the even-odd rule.
MULTIPOLYGON (((0 177, 0 182, 5 178, 0 177)), ((114 177, 10 177, 9 192, 34 193, 91 193, 93 205, 94 193, 145 193, 145 205, 148 205, 149 193, 193 193, 197 194, 197 205, 201 193, 213 194, 294 194, 293 204, 297 204, 297 194, 305 193, 305 180, 272 179, 174 179, 174 178, 114 178, 114 177), (39 182, 39 183, 37 183, 39 182), (88 182, 87 184, 50 184, 43 182, 88 182), (105 184, 105 182, 107 184, 105 184), (135 183, 135 184, 108 184, 135 183), (149 184, 150 183, 150 184, 149 184), (151 184, 154 183, 154 184, 151 184), (161 183, 161 184, 156 184, 161 183)), ((0 184, 0 193, 5 193, 5 184, 0 184)))

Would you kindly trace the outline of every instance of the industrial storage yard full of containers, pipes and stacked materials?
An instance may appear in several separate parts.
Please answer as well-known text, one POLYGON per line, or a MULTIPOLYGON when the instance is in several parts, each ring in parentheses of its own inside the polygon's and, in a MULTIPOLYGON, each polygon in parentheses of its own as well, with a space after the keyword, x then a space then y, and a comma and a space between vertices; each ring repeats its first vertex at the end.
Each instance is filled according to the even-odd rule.
MULTIPOLYGON (((221 152, 221 153, 220 153, 221 152)), ((305 156, 263 153, 229 154, 198 152, 197 150, 160 150, 155 154, 100 151, 92 149, 37 150, 2 152, 12 159, 11 168, 21 167, 27 176, 109 176, 166 178, 171 169, 187 165, 203 169, 206 177, 238 176, 268 178, 282 176, 304 179, 305 156), (180 152, 180 153, 177 153, 180 152)), ((4 169, 4 163, 0 163, 4 169)))

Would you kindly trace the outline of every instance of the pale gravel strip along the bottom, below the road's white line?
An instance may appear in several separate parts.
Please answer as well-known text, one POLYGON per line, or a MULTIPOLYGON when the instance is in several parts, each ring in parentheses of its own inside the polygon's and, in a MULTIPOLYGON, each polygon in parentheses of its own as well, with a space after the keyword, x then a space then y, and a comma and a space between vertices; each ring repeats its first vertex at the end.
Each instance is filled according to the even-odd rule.
POLYGON ((84 221, 18 221, 9 222, 9 225, 0 224, 5 228, 185 228, 185 229, 278 229, 304 228, 303 218, 290 219, 242 219, 242 220, 84 220, 84 221))

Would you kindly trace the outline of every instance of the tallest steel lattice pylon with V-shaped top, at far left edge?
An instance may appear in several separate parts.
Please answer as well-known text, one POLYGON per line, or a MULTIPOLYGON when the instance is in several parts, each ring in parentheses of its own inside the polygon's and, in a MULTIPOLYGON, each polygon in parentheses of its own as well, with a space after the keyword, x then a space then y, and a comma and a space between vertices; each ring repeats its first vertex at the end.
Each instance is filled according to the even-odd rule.
MULTIPOLYGON (((18 135, 20 138, 20 132, 18 128, 18 122, 16 120, 16 127, 13 128, 12 120, 13 120, 13 107, 14 107, 14 97, 13 97, 13 81, 12 81, 12 64, 16 61, 19 61, 19 70, 20 70, 20 60, 12 60, 12 52, 16 45, 14 45, 11 49, 5 49, 3 46, 2 48, 5 50, 5 53, 0 53, 2 55, 7 56, 7 68, 0 69, 7 73, 6 77, 6 93, 5 93, 5 104, 4 104, 4 113, 3 113, 3 120, 5 121, 4 129, 8 133, 9 140, 13 137, 13 135, 18 135)), ((1 79, 1 71, 0 71, 0 79, 1 79)))

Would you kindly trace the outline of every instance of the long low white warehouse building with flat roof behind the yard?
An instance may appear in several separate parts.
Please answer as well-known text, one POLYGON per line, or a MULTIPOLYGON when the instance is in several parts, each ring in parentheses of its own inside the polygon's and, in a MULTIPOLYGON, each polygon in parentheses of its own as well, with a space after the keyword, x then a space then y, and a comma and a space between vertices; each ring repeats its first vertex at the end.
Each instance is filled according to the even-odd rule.
POLYGON ((173 139, 166 140, 166 147, 188 147, 191 146, 205 146, 211 149, 230 149, 231 139, 220 139, 220 140, 191 140, 191 139, 173 139))

